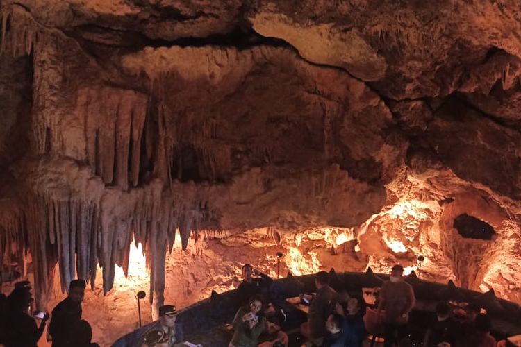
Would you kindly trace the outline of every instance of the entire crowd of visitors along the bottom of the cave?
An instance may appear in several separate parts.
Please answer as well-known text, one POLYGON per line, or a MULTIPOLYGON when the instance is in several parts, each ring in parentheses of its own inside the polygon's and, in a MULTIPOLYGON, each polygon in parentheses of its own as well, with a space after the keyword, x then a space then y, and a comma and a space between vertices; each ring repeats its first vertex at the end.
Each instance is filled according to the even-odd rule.
MULTIPOLYGON (((383 325, 384 346, 412 346, 407 339, 409 313, 415 306, 413 287, 403 278, 400 265, 392 267, 390 279, 383 283, 377 303, 377 323, 383 325)), ((289 339, 282 327, 288 316, 283 297, 270 291, 273 280, 256 271, 253 266, 242 266, 243 280, 238 287, 238 311, 233 319, 233 337, 229 347, 288 347, 289 339), (263 335, 263 341, 259 338, 263 335)), ((301 294, 309 305, 308 319, 300 331, 307 341, 304 347, 359 347, 365 339, 366 303, 360 295, 338 294, 329 286, 329 274, 320 271, 315 275, 317 291, 312 296, 301 294), (306 300, 311 299, 311 300, 306 300)), ((85 294, 85 281, 72 280, 69 294, 56 305, 51 314, 48 334, 53 347, 95 347, 91 342, 92 329, 81 319, 81 303, 85 294)), ((35 316, 28 313, 33 298, 28 281, 18 282, 8 296, 0 298, 0 345, 6 347, 37 346, 49 321, 49 314, 35 316)), ((159 307, 159 319, 125 335, 113 346, 172 347, 195 346, 183 341, 181 324, 176 321, 178 312, 173 305, 159 307)), ((495 347, 490 335, 490 319, 480 313, 480 307, 465 307, 465 319, 456 319, 448 303, 436 305, 436 317, 429 323, 424 337, 428 347, 495 347)), ((200 347, 197 345, 196 347, 200 347)))

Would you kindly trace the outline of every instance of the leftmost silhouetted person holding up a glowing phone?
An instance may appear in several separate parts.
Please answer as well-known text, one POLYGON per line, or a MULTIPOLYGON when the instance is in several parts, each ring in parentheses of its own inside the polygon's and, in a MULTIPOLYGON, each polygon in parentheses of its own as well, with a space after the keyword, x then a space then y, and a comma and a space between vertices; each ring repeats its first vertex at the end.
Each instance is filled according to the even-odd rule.
POLYGON ((44 314, 37 328, 35 319, 27 314, 33 298, 28 281, 18 282, 8 296, 6 314, 6 347, 36 347, 42 337, 49 314, 44 314))

